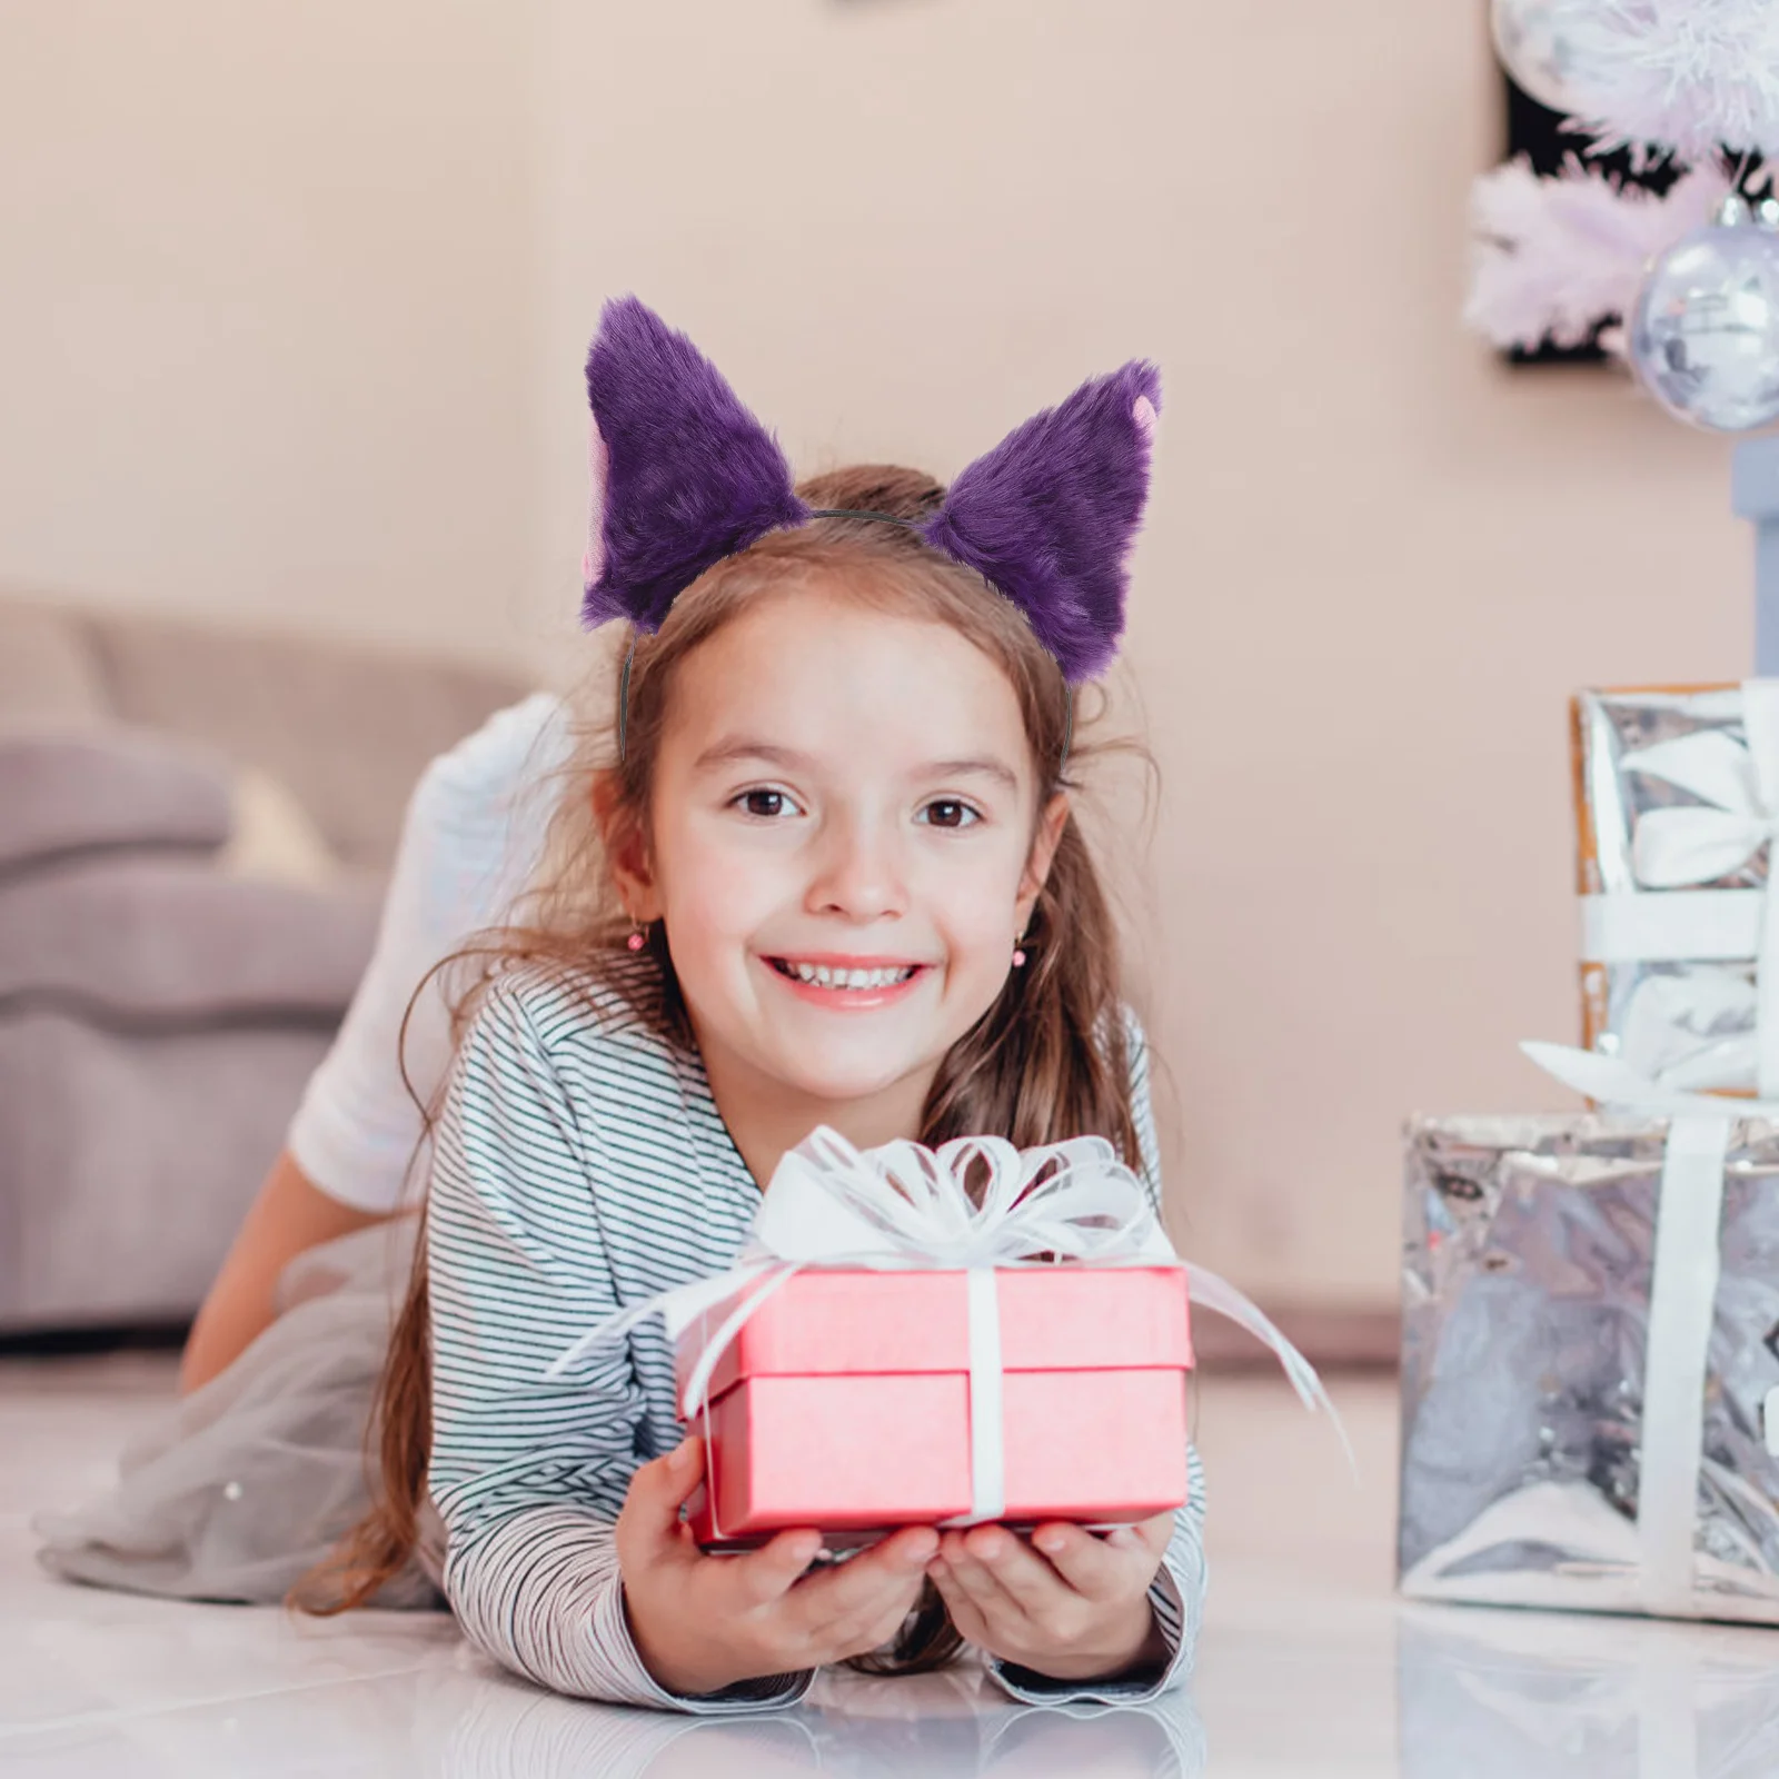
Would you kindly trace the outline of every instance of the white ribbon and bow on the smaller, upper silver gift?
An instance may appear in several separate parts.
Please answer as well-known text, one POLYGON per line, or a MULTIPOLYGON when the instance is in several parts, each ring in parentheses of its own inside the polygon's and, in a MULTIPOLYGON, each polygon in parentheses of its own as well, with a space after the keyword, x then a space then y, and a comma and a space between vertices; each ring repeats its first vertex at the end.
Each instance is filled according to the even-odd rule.
POLYGON ((1663 1087, 1754 1087, 1779 1098, 1779 680, 1740 690, 1745 744, 1699 729, 1640 747, 1619 770, 1701 799, 1649 809, 1631 836, 1631 870, 1656 891, 1582 897, 1589 962, 1747 962, 1751 989, 1729 971, 1653 977, 1624 1014, 1621 1055, 1663 1087), (1768 850, 1765 890, 1703 890, 1768 850))

